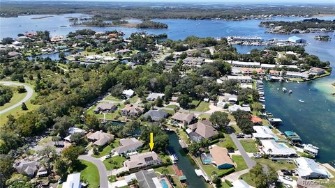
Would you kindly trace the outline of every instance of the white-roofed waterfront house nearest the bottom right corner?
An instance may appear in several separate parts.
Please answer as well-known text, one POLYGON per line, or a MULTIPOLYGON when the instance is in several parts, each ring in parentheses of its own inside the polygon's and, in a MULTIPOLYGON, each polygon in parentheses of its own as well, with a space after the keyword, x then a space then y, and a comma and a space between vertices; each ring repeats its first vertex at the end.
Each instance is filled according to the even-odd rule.
POLYGON ((323 169, 319 164, 317 164, 313 159, 299 157, 295 159, 295 164, 297 164, 298 166, 297 173, 299 174, 299 176, 306 177, 308 175, 311 175, 311 173, 329 176, 327 171, 323 169))

